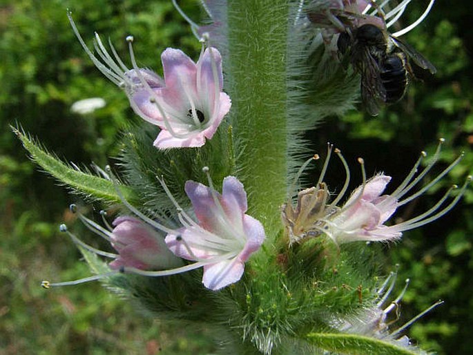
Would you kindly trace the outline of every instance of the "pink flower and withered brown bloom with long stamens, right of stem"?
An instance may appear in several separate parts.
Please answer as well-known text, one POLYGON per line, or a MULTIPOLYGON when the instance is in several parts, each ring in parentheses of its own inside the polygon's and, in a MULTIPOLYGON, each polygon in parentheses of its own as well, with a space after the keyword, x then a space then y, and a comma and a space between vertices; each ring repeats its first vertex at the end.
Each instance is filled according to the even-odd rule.
MULTIPOLYGON (((347 162, 345 162, 340 151, 336 149, 336 153, 345 166, 347 178, 342 191, 338 193, 334 201, 327 204, 329 191, 327 185, 322 182, 322 180, 333 148, 333 146, 329 145, 327 159, 319 181, 316 184, 317 187, 300 191, 300 193, 298 193, 296 208, 292 206, 291 201, 288 201, 282 207, 282 221, 286 226, 290 242, 299 242, 306 237, 319 236, 322 233, 329 236, 336 244, 356 242, 358 240, 390 242, 398 240, 402 236, 403 231, 421 227, 424 224, 441 218, 441 216, 450 211, 458 200, 461 199, 467 185, 472 181, 471 176, 467 178, 460 192, 450 203, 447 204, 445 202, 450 196, 450 193, 454 189, 457 189, 457 186, 452 186, 445 195, 443 195, 441 200, 424 213, 397 224, 389 226, 385 224, 392 218, 396 209, 415 200, 425 193, 425 191, 428 191, 460 162, 463 155, 459 156, 450 166, 438 174, 434 180, 421 189, 418 189, 415 193, 412 193, 412 195, 408 195, 436 164, 443 142, 444 140, 440 140, 432 160, 421 173, 416 175, 418 167, 426 156, 426 153, 422 152, 421 157, 419 157, 405 180, 389 195, 383 193, 387 184, 391 181, 391 177, 384 173, 379 173, 366 181, 364 162, 363 160, 359 160, 363 170, 363 184, 351 193, 350 198, 341 207, 338 207, 337 204, 347 191, 350 173, 347 162)), ((311 159, 308 160, 307 163, 310 162, 311 159)), ((307 163, 305 166, 307 166, 307 163)), ((304 169, 305 166, 302 166, 302 169, 304 169)))

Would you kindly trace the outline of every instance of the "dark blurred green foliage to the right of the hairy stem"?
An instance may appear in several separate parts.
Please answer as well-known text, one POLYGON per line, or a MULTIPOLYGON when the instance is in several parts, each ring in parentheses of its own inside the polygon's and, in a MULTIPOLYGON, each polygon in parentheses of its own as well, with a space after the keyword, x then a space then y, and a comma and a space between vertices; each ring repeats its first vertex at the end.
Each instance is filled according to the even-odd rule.
MULTIPOLYGON (((412 1, 402 17, 403 26, 412 23, 427 1, 412 1)), ((367 173, 385 171, 392 175, 396 187, 412 169, 421 151, 432 156, 438 138, 445 138, 440 172, 461 152, 463 161, 434 188, 400 211, 403 220, 432 207, 452 184, 461 185, 473 173, 473 30, 467 13, 473 11, 470 1, 437 1, 421 26, 403 39, 421 52, 437 68, 433 77, 419 73, 405 97, 387 106, 378 117, 353 111, 345 117, 327 120, 310 134, 317 151, 324 151, 327 141, 334 142, 351 161, 365 159, 367 173), (460 10, 461 9, 461 10, 460 10)), ((394 29, 396 30, 396 29, 394 29)), ((432 179, 435 171, 429 174, 432 179)), ((359 183, 354 171, 354 186, 359 183)), ((332 171, 327 182, 341 184, 340 173, 332 171)), ((332 186, 333 188, 334 186, 332 186)), ((402 280, 411 282, 401 305, 402 325, 427 309, 436 300, 445 303, 418 320, 409 336, 423 349, 438 354, 470 354, 473 339, 471 280, 473 268, 473 189, 469 189, 448 215, 416 231, 404 233, 403 240, 385 249, 388 269, 399 265, 397 289, 402 280)))

